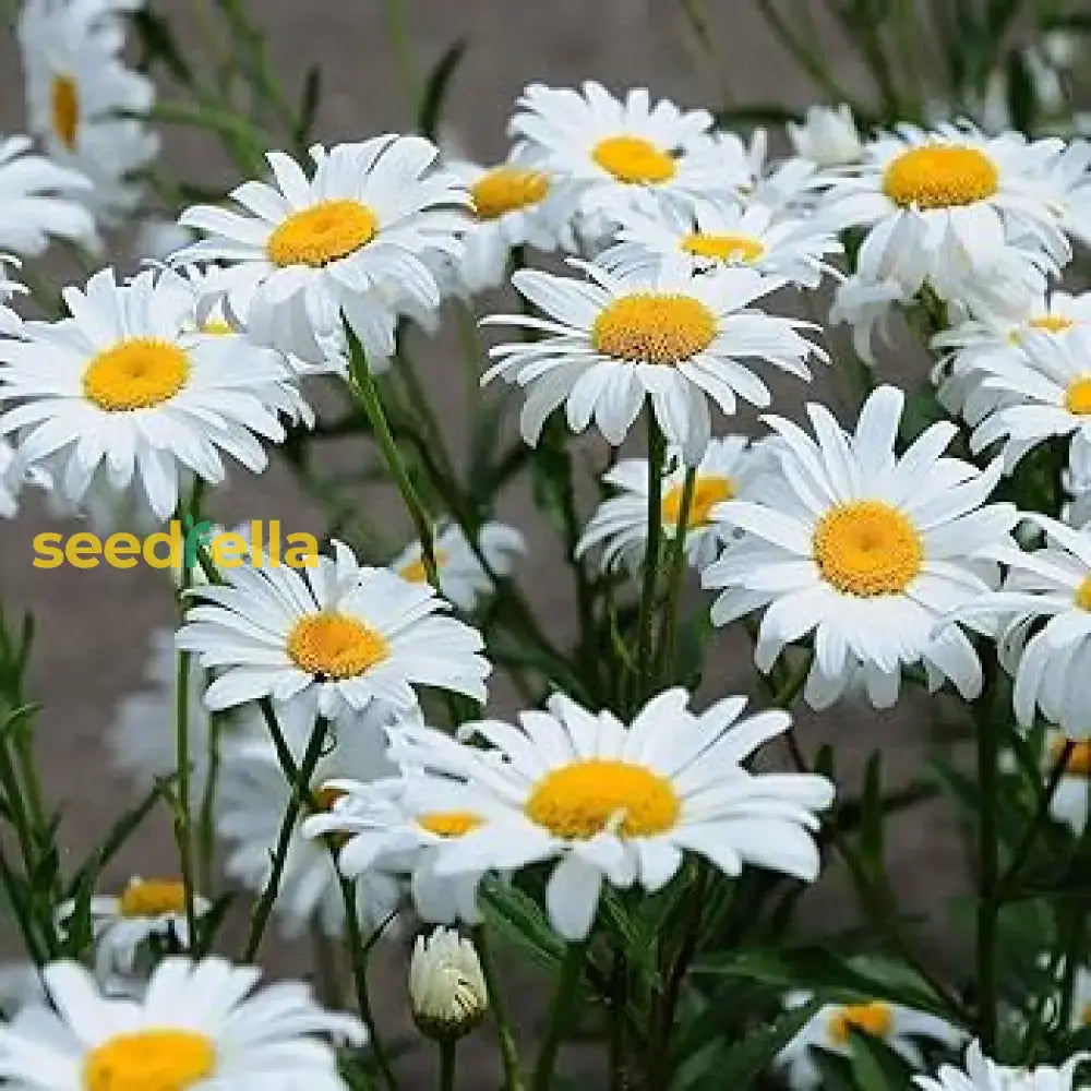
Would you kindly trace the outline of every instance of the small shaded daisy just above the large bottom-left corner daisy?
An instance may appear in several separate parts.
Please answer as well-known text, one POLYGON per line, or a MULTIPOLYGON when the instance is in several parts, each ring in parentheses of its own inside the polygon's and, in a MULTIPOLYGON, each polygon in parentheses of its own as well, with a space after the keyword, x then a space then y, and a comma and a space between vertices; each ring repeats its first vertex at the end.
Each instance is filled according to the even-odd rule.
MULTIPOLYGON (((62 902, 57 908, 58 923, 64 925, 75 908, 75 901, 62 902)), ((212 909, 212 902, 194 895, 193 908, 202 916, 212 909)), ((183 948, 190 947, 185 887, 179 879, 136 876, 119 897, 92 897, 88 909, 99 981, 112 974, 134 973, 137 952, 152 938, 172 938, 183 948)))

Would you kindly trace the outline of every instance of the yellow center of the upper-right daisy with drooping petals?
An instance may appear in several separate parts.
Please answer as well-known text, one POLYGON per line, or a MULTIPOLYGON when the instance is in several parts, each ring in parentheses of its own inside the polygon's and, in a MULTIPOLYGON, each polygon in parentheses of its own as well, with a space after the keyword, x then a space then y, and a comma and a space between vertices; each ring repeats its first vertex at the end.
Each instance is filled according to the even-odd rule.
POLYGON ((910 148, 883 176, 883 192, 902 207, 954 208, 991 197, 999 184, 996 165, 975 147, 931 144, 910 148))

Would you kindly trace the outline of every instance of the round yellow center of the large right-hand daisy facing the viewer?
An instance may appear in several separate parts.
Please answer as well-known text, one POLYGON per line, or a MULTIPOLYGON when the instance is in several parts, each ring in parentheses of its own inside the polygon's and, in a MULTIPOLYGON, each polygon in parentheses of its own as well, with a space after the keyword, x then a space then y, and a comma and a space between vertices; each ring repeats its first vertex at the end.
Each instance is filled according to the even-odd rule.
POLYGON ((862 598, 903 591, 924 561, 913 525, 877 500, 831 508, 815 527, 813 548, 823 576, 839 591, 862 598))

